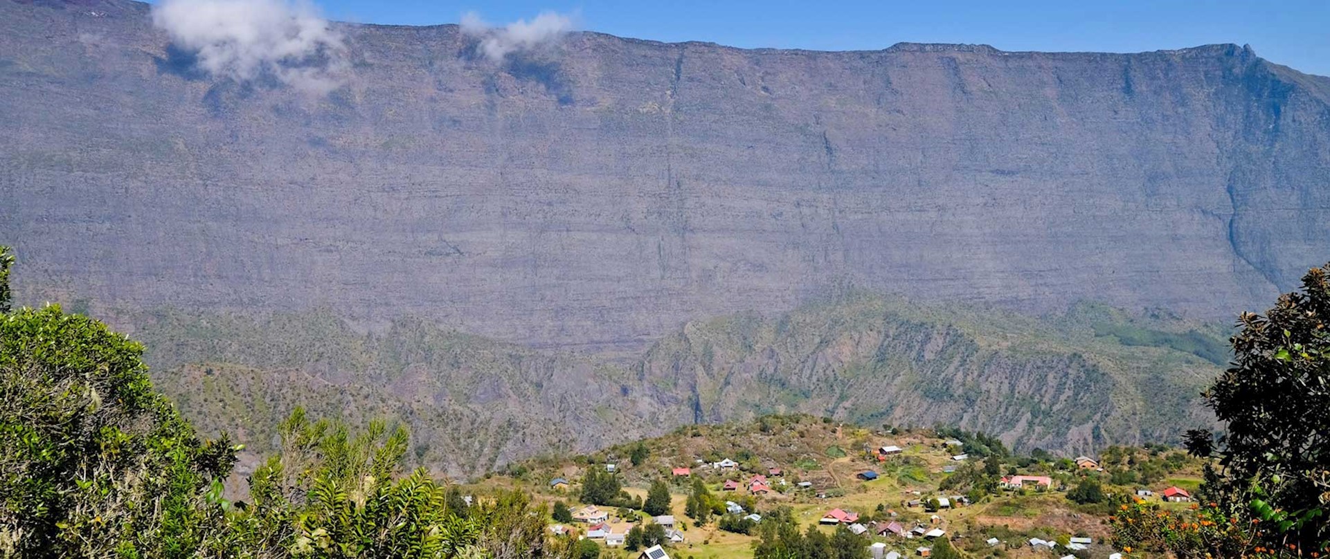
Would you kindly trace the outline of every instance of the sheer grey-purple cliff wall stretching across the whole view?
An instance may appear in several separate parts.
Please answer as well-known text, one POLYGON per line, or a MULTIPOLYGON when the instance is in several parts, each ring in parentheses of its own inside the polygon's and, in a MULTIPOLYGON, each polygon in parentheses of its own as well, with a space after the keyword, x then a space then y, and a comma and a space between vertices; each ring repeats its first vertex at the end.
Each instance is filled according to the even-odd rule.
POLYGON ((1330 247, 1330 80, 1246 48, 742 50, 575 33, 492 64, 344 25, 309 100, 124 0, 0 0, 27 300, 404 313, 641 347, 829 284, 1232 316, 1330 247))

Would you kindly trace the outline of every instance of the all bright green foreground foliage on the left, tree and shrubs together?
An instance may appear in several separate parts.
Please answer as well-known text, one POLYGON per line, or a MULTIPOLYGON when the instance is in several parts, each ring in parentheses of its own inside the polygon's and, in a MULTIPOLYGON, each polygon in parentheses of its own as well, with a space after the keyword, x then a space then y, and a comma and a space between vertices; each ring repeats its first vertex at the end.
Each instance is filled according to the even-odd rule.
MULTIPOLYGON (((0 308, 8 308, 0 247, 0 308)), ((0 313, 0 556, 569 558, 520 493, 467 505, 423 470, 400 475, 403 429, 309 421, 222 498, 235 462, 157 393, 144 348, 60 307, 0 313)))

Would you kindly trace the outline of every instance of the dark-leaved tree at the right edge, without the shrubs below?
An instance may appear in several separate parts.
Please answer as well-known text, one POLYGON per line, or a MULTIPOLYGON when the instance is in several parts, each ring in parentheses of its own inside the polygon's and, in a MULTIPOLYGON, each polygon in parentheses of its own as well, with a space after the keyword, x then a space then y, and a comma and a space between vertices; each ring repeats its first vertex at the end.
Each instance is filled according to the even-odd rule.
POLYGON ((1264 524, 1261 547, 1330 551, 1330 264, 1302 278, 1264 316, 1244 312, 1233 365, 1202 394, 1225 424, 1188 449, 1217 458, 1204 501, 1264 524))

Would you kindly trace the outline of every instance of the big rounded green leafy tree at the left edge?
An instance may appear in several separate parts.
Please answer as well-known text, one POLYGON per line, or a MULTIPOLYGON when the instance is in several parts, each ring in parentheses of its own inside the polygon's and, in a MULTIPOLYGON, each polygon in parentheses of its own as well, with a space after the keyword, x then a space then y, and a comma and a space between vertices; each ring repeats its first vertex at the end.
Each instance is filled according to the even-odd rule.
POLYGON ((190 556, 221 544, 235 449, 153 390, 144 347, 60 307, 9 309, 0 250, 0 556, 190 556))

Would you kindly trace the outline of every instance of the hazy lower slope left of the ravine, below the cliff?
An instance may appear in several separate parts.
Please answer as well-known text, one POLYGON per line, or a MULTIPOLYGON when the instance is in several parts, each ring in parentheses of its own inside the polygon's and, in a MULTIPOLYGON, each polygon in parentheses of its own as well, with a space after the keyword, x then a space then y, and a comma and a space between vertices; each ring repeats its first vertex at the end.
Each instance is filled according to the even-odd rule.
POLYGON ((295 405, 352 422, 406 421, 418 459, 454 475, 604 446, 650 420, 616 404, 620 369, 415 320, 372 335, 329 311, 259 319, 164 311, 136 320, 158 386, 202 429, 237 433, 255 451, 271 447, 273 429, 295 405))

